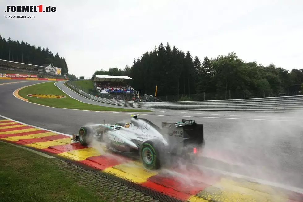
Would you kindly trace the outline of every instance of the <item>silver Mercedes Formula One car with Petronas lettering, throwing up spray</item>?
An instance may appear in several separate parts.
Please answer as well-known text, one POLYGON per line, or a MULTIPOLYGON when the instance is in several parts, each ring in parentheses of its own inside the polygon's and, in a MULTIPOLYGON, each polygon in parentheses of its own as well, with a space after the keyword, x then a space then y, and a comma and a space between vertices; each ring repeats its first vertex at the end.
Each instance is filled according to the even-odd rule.
POLYGON ((135 154, 147 169, 159 169, 173 156, 188 159, 204 147, 203 124, 194 120, 162 122, 162 128, 151 121, 131 115, 130 123, 83 126, 72 140, 89 145, 94 139, 104 142, 114 152, 135 154), (139 154, 139 155, 138 155, 139 154))

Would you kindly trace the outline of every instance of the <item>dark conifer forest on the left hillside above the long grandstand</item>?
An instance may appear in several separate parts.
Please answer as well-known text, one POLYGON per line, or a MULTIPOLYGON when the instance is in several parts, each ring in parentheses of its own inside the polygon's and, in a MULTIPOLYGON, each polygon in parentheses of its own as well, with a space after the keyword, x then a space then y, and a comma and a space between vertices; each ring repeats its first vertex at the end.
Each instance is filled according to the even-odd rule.
POLYGON ((65 58, 57 53, 55 56, 48 48, 36 47, 24 41, 7 40, 0 35, 0 59, 26 64, 43 65, 53 64, 62 68, 62 74, 68 74, 68 67, 65 58))

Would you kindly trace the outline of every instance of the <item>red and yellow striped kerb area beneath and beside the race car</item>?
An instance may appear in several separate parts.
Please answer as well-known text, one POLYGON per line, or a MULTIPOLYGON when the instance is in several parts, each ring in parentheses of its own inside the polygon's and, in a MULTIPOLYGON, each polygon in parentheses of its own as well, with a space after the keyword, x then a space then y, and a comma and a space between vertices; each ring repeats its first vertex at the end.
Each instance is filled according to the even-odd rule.
POLYGON ((96 170, 106 178, 159 201, 288 201, 303 202, 303 195, 286 189, 231 177, 195 166, 146 170, 141 162, 109 152, 104 146, 87 147, 71 135, 0 117, 0 140, 65 159, 96 170))

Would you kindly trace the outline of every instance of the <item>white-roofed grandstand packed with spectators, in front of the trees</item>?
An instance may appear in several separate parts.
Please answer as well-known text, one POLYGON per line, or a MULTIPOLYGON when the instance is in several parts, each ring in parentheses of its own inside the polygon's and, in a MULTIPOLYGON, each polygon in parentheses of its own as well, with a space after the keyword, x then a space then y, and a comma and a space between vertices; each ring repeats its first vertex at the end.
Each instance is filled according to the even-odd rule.
POLYGON ((102 97, 128 100, 137 98, 137 91, 124 81, 132 79, 127 76, 95 75, 94 86, 102 97))

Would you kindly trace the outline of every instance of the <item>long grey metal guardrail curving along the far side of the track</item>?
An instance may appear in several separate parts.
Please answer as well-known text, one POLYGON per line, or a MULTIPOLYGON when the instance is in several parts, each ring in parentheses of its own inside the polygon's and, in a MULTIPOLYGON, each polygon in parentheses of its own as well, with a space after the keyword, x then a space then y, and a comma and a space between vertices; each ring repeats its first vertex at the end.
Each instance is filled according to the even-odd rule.
POLYGON ((186 102, 131 102, 100 98, 87 94, 75 88, 67 82, 67 85, 79 94, 89 99, 113 104, 118 106, 145 108, 145 109, 177 109, 177 110, 207 110, 207 111, 265 111, 265 112, 285 112, 296 109, 303 109, 303 95, 234 99, 234 100, 211 100, 211 101, 186 101, 186 102))

